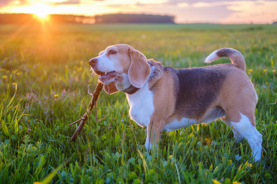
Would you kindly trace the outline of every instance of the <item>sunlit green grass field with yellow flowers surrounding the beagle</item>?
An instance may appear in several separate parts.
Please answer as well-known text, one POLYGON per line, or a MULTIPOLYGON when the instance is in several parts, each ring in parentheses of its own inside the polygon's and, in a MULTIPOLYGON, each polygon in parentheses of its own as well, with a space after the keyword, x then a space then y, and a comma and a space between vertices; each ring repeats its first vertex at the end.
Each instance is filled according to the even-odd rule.
POLYGON ((1 183, 277 183, 276 25, 0 25, 0 68, 1 183), (208 65, 219 48, 239 50, 259 95, 261 162, 221 121, 163 132, 148 153, 123 92, 103 92, 103 120, 93 111, 70 143, 77 125, 69 124, 90 101, 87 84, 94 90, 97 82, 88 60, 116 43, 179 68, 208 65))

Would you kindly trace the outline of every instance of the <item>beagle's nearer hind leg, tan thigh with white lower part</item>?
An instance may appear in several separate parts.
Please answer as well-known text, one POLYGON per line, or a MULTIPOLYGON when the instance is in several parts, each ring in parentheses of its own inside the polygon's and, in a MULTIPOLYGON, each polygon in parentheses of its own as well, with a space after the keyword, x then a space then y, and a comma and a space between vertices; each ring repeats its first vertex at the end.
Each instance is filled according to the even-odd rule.
POLYGON ((243 70, 229 74, 223 88, 219 97, 220 106, 231 125, 248 141, 254 161, 258 161, 261 159, 263 139, 255 126, 255 107, 258 101, 255 88, 243 70))

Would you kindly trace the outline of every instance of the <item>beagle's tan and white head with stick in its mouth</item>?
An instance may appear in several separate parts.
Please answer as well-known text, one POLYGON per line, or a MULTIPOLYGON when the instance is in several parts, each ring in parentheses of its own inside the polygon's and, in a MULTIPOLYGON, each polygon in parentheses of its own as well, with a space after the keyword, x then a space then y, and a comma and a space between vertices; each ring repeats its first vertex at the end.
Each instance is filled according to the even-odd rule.
POLYGON ((127 44, 111 45, 99 56, 90 59, 89 64, 110 94, 131 85, 143 87, 151 73, 147 58, 127 44))

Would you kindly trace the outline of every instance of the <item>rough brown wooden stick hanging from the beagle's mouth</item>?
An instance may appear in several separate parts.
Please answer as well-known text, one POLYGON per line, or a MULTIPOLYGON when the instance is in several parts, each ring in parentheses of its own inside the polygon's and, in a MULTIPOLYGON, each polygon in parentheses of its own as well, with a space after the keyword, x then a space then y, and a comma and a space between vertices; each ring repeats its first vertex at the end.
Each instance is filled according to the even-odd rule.
MULTIPOLYGON (((75 130, 74 134, 71 137, 71 142, 75 141, 77 138, 77 135, 80 133, 80 131, 83 129, 83 127, 85 126, 86 121, 88 120, 88 117, 90 116, 90 113, 92 111, 93 106, 96 104, 98 96, 103 88, 104 84, 102 84, 101 82, 98 82, 96 85, 96 88, 94 90, 94 92, 92 93, 91 96, 91 100, 89 102, 89 106, 86 110, 86 112, 84 113, 83 117, 80 120, 77 120, 76 123, 78 121, 81 121, 81 123, 79 124, 78 128, 75 130)), ((90 90, 89 90, 90 93, 90 90)), ((91 93, 90 93, 91 94, 91 93)), ((75 123, 75 122, 74 122, 75 123)))

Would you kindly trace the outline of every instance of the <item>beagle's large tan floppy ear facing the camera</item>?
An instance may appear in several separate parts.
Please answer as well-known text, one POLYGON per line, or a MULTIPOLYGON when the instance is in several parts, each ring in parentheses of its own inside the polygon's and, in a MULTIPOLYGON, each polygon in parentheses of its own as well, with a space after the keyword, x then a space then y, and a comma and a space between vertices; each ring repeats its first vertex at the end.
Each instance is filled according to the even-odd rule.
POLYGON ((128 70, 130 83, 141 88, 150 76, 151 68, 147 63, 147 58, 140 51, 129 49, 131 65, 128 70))

